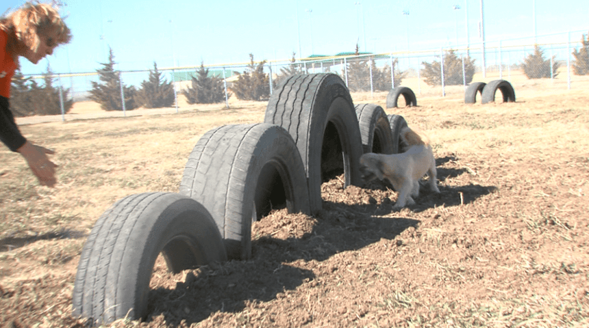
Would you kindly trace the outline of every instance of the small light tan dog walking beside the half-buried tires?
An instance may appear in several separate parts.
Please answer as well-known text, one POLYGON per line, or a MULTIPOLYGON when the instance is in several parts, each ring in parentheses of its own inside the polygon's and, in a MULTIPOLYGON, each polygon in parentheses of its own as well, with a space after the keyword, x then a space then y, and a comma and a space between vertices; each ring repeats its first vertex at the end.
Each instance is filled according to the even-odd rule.
POLYGON ((393 208, 399 210, 406 205, 415 204, 419 196, 419 180, 427 174, 429 188, 440 193, 437 183, 436 159, 429 139, 405 127, 400 133, 403 142, 401 154, 375 154, 368 152, 360 156, 360 172, 364 182, 374 179, 387 179, 394 190, 399 192, 393 208))

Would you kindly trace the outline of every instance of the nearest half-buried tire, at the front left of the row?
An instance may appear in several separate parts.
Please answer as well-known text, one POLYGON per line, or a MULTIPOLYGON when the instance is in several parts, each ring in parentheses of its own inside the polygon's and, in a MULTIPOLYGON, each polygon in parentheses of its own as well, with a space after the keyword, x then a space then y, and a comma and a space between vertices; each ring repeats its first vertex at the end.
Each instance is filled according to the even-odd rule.
POLYGON ((216 224, 195 200, 177 193, 129 195, 101 215, 82 249, 73 315, 99 325, 147 316, 160 252, 176 273, 227 260, 216 224))

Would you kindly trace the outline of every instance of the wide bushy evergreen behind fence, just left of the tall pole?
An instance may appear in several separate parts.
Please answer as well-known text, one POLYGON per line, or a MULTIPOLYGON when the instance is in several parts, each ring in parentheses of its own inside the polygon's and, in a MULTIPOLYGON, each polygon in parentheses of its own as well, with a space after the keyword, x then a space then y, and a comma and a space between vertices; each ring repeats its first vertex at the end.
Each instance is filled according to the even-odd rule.
MULTIPOLYGON (((462 85, 473 81, 475 75, 475 59, 471 57, 464 58, 464 76, 462 73, 462 59, 454 53, 453 50, 446 51, 443 55, 444 60, 444 85, 462 85)), ((429 64, 423 61, 423 70, 421 75, 425 78, 427 85, 442 85, 441 61, 434 61, 429 64)))

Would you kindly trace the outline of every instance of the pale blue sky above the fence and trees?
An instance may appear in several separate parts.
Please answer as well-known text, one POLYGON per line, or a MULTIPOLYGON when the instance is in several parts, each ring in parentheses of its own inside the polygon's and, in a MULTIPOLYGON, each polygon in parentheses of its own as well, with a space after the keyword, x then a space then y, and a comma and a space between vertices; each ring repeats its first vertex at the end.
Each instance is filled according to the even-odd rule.
MULTIPOLYGON (((23 2, 3 0, 1 12, 23 2)), ((293 51, 299 57, 299 44, 302 57, 354 51, 356 42, 360 51, 403 51, 408 38, 412 51, 438 49, 455 45, 457 33, 458 45, 464 45, 467 5, 470 43, 480 42, 480 0, 63 2, 62 15, 73 31, 71 44, 37 65, 21 59, 24 74, 44 72, 48 63, 53 72, 95 72, 107 61, 109 45, 119 70, 147 70, 153 61, 160 68, 247 62, 249 53, 256 60, 288 59, 293 51)), ((557 5, 549 0, 487 0, 486 40, 534 36, 534 3, 538 35, 589 32, 587 0, 560 0, 557 5)))

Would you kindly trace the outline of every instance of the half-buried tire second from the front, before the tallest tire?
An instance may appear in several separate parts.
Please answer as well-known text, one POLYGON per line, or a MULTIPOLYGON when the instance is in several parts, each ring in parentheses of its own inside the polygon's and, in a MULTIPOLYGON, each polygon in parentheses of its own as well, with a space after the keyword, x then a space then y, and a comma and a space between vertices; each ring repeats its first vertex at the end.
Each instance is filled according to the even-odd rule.
POLYGON ((205 133, 188 156, 180 193, 210 211, 230 259, 251 258, 251 222, 270 210, 310 214, 299 150, 284 128, 266 123, 205 133))

